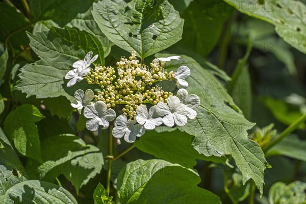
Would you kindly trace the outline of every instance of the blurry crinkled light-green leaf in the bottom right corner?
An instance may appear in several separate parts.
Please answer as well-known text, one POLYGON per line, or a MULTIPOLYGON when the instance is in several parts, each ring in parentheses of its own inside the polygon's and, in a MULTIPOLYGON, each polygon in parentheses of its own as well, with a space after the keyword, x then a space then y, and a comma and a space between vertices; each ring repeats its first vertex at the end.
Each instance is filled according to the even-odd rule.
POLYGON ((304 203, 306 199, 306 183, 296 181, 288 186, 282 182, 273 184, 269 191, 269 202, 271 204, 298 204, 304 203))

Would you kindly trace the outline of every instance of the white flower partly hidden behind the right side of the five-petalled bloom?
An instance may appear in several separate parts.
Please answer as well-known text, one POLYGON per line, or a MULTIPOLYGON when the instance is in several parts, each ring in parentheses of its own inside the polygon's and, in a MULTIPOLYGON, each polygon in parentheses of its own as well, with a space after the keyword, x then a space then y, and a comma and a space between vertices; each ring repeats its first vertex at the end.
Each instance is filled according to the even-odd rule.
POLYGON ((186 89, 177 91, 176 96, 180 98, 182 104, 187 106, 189 111, 187 117, 194 119, 196 117, 196 111, 193 109, 196 109, 200 105, 200 98, 195 94, 188 95, 186 89))

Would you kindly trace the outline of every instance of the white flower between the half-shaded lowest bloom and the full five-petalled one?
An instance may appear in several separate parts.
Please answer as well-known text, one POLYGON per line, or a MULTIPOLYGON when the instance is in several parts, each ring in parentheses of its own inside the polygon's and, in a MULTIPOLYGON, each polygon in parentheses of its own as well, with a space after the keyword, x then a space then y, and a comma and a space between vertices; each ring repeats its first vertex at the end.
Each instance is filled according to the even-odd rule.
POLYGON ((156 110, 156 106, 152 106, 149 109, 149 113, 147 108, 144 105, 140 105, 136 109, 136 120, 139 124, 142 124, 147 130, 154 130, 156 126, 159 126, 163 123, 163 119, 160 117, 154 117, 154 113, 156 110))

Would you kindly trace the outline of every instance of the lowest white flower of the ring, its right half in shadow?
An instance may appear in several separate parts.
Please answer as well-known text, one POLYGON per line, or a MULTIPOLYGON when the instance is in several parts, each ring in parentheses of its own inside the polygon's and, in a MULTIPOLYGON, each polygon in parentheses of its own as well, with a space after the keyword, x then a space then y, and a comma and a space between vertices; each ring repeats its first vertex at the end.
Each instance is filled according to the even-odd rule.
MULTIPOLYGON (((134 117, 135 118, 135 117, 134 117)), ((128 121, 125 115, 119 115, 116 118, 117 126, 112 133, 117 139, 124 137, 126 142, 135 142, 136 137, 141 137, 145 133, 145 128, 141 124, 135 124, 136 119, 128 121)))

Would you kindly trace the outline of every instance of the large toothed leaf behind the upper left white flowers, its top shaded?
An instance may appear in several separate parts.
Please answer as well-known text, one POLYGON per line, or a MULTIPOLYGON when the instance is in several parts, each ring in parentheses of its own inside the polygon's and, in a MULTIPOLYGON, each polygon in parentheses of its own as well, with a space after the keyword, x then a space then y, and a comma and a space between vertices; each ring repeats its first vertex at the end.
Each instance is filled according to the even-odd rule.
POLYGON ((96 64, 104 64, 104 54, 101 43, 91 34, 76 28, 51 28, 36 35, 28 34, 30 46, 41 58, 39 61, 27 64, 21 68, 15 89, 36 95, 37 98, 65 96, 72 100, 75 90, 87 88, 85 80, 73 87, 67 88, 69 80, 65 80, 66 73, 73 69, 75 61, 84 59, 92 51, 99 57, 96 64))

